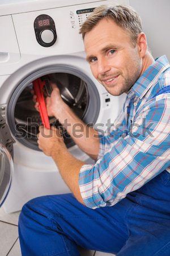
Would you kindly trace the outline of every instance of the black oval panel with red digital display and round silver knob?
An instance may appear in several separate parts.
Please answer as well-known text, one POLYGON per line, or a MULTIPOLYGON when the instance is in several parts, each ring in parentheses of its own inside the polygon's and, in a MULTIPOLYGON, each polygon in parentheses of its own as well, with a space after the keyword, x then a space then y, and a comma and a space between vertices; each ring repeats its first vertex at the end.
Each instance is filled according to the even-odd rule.
POLYGON ((37 42, 44 47, 53 46, 57 39, 54 20, 46 14, 37 16, 34 22, 37 42))

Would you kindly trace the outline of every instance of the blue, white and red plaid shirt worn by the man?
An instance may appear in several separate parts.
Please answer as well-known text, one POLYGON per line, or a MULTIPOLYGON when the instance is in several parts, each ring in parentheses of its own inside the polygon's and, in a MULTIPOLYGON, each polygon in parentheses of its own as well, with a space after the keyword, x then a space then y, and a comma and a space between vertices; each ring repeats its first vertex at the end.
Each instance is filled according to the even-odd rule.
POLYGON ((96 164, 80 169, 79 188, 87 207, 112 206, 170 170, 170 97, 154 97, 167 85, 170 65, 162 56, 135 82, 114 125, 100 135, 96 164))

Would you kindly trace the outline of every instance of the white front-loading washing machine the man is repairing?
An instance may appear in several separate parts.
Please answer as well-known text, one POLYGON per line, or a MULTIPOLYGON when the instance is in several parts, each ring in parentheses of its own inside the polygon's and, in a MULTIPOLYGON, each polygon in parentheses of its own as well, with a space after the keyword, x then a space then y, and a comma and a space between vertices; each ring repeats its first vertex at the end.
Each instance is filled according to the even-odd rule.
MULTIPOLYGON (((41 120, 32 102, 35 79, 48 78, 61 89, 67 88, 74 97, 70 101, 65 99, 67 104, 84 122, 96 123, 100 130, 108 119, 113 122, 122 108, 123 98, 108 94, 92 76, 79 34, 81 24, 95 7, 118 3, 128 4, 128 0, 1 0, 0 204, 11 184, 3 204, 7 213, 20 210, 33 197, 69 192, 53 160, 37 147, 36 133, 41 120)), ((50 122, 58 126, 56 119, 51 118, 50 122)), ((63 134, 76 158, 92 161, 74 145, 65 130, 63 134)))

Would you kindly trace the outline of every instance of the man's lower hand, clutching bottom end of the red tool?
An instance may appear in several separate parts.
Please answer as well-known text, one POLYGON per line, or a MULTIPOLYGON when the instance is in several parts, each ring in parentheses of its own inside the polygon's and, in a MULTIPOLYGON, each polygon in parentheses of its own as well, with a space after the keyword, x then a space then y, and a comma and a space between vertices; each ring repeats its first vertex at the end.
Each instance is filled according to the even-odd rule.
POLYGON ((39 131, 40 133, 37 134, 38 144, 40 150, 42 150, 45 155, 53 156, 58 150, 67 149, 62 135, 59 134, 58 129, 55 127, 52 126, 52 128, 49 130, 43 126, 40 126, 39 131))

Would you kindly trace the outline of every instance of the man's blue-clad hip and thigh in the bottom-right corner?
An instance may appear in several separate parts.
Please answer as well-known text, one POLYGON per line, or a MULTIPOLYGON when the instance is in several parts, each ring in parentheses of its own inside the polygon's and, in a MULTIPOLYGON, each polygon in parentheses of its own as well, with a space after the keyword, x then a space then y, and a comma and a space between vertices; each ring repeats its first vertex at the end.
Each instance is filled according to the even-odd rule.
POLYGON ((137 204, 126 214, 130 236, 117 256, 169 256, 170 174, 164 171, 127 197, 137 204))

